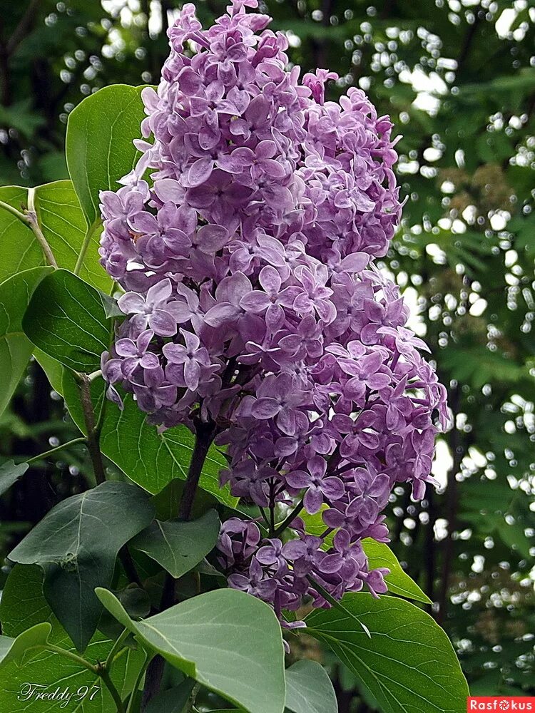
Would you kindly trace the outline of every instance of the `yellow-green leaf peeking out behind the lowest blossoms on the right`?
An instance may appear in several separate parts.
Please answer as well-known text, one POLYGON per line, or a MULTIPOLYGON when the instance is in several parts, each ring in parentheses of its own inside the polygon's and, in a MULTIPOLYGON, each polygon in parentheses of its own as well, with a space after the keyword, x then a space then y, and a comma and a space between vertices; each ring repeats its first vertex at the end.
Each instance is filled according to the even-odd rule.
MULTIPOLYGON (((323 509, 325 508, 327 508, 327 506, 323 506, 323 509)), ((301 517, 305 522, 307 533, 310 535, 321 535, 325 532, 325 523, 322 520, 321 512, 315 515, 304 513, 301 517)), ((334 536, 335 533, 327 535, 325 538, 325 547, 332 547, 334 536)), ((400 597, 407 597, 407 599, 423 602, 424 604, 432 604, 429 597, 422 592, 417 583, 403 570, 396 555, 394 555, 388 545, 376 542, 372 540, 372 538, 365 538, 362 540, 362 548, 367 555, 370 570, 375 570, 379 567, 387 567, 390 570, 389 575, 384 578, 388 585, 389 592, 397 594, 400 597)))

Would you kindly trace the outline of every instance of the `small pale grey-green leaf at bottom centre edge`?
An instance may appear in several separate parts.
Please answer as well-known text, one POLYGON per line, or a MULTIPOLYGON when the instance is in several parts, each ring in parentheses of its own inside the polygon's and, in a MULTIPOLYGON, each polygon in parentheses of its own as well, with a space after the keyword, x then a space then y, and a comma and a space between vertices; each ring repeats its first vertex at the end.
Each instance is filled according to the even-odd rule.
POLYGON ((297 661, 286 669, 286 707, 293 713, 338 713, 335 689, 317 661, 297 661))

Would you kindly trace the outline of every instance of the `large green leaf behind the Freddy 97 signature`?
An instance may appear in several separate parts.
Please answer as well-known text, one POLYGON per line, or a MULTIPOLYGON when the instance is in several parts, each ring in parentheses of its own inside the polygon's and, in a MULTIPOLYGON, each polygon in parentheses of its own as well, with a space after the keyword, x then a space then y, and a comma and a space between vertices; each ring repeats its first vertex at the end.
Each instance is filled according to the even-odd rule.
MULTIPOLYGON (((17 637, 22 632, 48 622, 51 626, 49 642, 74 652, 75 649, 63 627, 46 603, 43 595, 43 572, 31 565, 15 565, 7 579, 0 601, 2 630, 9 637, 17 637)), ((113 642, 97 633, 85 653, 88 661, 96 663, 106 660, 113 642)), ((126 697, 133 687, 136 674, 143 662, 141 650, 124 650, 116 659, 111 678, 126 697)), ((29 682, 43 686, 42 692, 52 693, 68 687, 73 692, 71 701, 61 710, 66 713, 111 713, 115 710, 108 689, 98 676, 76 662, 50 651, 27 652, 22 661, 6 663, 0 671, 0 710, 9 713, 41 713, 46 703, 31 697, 19 697, 24 684, 29 682), (76 692, 87 687, 88 694, 79 699, 76 692), (90 699, 90 693, 93 699, 90 699)), ((27 686, 26 686, 27 689, 27 686)), ((51 708, 51 710, 54 708, 51 708)))

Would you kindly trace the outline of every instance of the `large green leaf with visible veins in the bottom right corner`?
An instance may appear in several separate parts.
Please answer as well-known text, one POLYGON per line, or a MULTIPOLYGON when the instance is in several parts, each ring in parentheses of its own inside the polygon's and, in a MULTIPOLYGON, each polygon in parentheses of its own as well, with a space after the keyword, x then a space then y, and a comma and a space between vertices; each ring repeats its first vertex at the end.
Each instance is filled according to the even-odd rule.
POLYGON ((464 713, 467 682, 451 642, 432 617, 395 597, 347 594, 342 605, 350 614, 337 608, 312 612, 307 633, 335 652, 384 713, 464 713))

